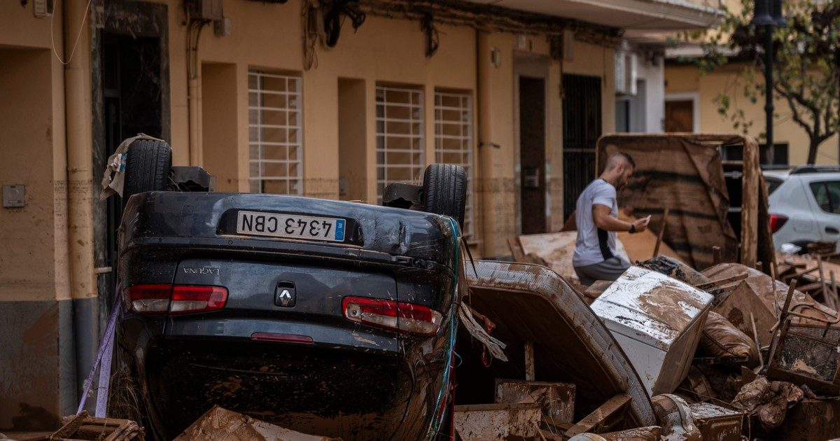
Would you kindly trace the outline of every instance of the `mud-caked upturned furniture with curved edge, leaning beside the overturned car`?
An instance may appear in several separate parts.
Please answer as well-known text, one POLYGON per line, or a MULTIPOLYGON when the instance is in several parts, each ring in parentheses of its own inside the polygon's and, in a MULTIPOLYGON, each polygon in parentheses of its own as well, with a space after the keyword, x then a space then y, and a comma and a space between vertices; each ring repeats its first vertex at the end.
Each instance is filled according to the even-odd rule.
POLYGON ((562 385, 557 399, 567 404, 551 410, 535 403, 543 410, 540 427, 547 438, 655 425, 643 382, 616 339, 554 271, 486 260, 476 261, 475 270, 467 265, 466 271, 470 296, 465 303, 493 323, 492 336, 507 344, 508 361, 488 358, 478 341, 460 332, 457 404, 495 402, 500 379, 543 382, 522 387, 564 383, 575 385, 573 412, 562 385), (564 415, 574 419, 560 421, 564 415))

